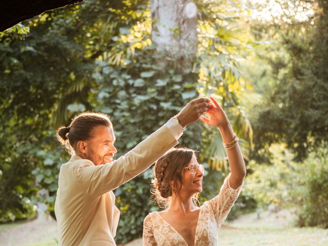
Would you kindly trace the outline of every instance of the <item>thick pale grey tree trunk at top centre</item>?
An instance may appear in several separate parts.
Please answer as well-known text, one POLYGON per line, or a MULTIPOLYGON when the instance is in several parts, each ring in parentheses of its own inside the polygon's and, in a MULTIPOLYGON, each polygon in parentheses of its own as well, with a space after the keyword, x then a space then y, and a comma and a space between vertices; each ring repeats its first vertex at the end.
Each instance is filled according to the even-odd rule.
POLYGON ((152 42, 190 67, 197 53, 197 7, 189 0, 151 0, 152 42))

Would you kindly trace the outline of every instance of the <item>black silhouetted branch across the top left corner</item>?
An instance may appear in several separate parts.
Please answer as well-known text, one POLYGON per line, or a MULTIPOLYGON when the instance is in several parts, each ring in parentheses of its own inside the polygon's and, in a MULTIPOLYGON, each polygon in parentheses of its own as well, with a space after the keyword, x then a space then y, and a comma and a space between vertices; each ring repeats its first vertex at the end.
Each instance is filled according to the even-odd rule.
POLYGON ((25 19, 51 9, 77 4, 83 0, 7 0, 0 6, 0 32, 22 22, 25 19))

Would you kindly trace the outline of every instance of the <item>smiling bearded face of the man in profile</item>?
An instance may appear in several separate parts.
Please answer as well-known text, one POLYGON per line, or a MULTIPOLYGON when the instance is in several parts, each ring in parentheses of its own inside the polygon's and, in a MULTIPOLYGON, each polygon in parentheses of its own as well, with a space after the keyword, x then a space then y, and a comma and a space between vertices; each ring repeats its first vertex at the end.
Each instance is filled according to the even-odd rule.
POLYGON ((115 135, 113 127, 96 126, 92 131, 93 138, 86 142, 86 159, 91 160, 94 165, 102 165, 113 161, 117 152, 114 147, 115 135))

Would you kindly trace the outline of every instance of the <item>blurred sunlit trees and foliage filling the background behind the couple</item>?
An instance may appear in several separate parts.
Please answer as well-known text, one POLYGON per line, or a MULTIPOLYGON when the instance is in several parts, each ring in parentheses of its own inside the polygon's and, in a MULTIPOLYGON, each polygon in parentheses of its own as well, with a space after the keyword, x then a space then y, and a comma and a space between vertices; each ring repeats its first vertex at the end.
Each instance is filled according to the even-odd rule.
MULTIPOLYGON (((229 218, 293 208, 298 226, 328 228, 328 1, 194 3, 196 24, 170 31, 181 44, 194 29, 195 50, 156 42, 163 16, 146 0, 85 0, 0 33, 1 223, 35 217, 37 202, 54 216, 59 167, 69 159, 55 130, 75 114, 109 114, 120 156, 191 99, 214 95, 248 170, 229 218)), ((201 202, 229 173, 221 142, 200 122, 180 140, 206 166, 201 202)), ((117 242, 140 237, 144 217, 158 210, 151 177, 150 169, 115 190, 117 242)))

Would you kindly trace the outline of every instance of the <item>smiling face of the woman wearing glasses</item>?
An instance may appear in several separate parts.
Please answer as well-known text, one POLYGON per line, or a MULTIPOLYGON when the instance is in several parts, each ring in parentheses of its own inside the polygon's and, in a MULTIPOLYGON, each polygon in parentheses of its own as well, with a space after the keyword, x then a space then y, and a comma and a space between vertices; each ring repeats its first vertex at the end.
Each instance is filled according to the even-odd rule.
POLYGON ((182 186, 180 192, 192 196, 202 191, 203 166, 199 165, 195 156, 193 156, 187 167, 183 169, 182 186), (195 166, 193 166, 195 165, 195 166), (197 167, 197 168, 196 168, 197 167))

